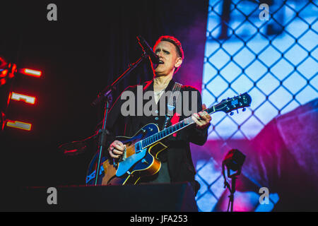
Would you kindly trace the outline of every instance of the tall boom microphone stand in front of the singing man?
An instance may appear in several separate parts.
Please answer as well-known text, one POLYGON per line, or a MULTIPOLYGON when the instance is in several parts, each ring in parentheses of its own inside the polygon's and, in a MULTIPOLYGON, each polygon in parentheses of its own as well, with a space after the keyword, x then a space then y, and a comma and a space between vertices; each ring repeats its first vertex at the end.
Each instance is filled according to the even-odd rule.
POLYGON ((107 115, 108 111, 111 106, 112 102, 112 91, 115 89, 115 86, 119 81, 124 78, 127 74, 129 74, 131 71, 133 71, 144 59, 148 57, 148 54, 146 52, 143 52, 143 55, 134 63, 129 64, 129 68, 122 73, 121 76, 119 76, 111 85, 108 85, 102 92, 98 94, 98 97, 92 102, 92 106, 98 105, 98 103, 102 102, 105 100, 105 112, 104 112, 104 118, 102 119, 102 130, 101 130, 101 138, 98 141, 98 162, 96 165, 96 170, 95 170, 95 186, 98 185, 98 177, 100 174, 100 163, 102 160, 102 153, 105 148, 106 140, 107 140, 107 130, 106 130, 106 124, 107 124, 107 115))

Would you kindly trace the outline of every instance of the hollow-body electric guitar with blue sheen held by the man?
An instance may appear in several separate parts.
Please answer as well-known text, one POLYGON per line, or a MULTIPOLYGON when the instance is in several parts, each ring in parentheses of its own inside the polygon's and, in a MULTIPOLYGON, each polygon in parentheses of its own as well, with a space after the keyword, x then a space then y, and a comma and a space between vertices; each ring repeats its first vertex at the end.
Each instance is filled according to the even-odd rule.
MULTIPOLYGON (((251 102, 251 97, 247 93, 243 93, 223 100, 218 105, 204 109, 204 111, 208 114, 215 112, 228 113, 239 108, 243 108, 243 111, 245 111, 245 107, 249 107, 251 102)), ((188 117, 162 131, 156 124, 147 124, 130 138, 117 136, 116 139, 122 141, 126 148, 119 159, 103 162, 105 174, 102 184, 112 184, 114 178, 117 178, 117 181, 119 179, 119 184, 137 184, 141 177, 156 174, 161 167, 161 162, 157 158, 158 154, 167 148, 160 141, 191 124, 194 124, 194 121, 192 117, 188 117)))

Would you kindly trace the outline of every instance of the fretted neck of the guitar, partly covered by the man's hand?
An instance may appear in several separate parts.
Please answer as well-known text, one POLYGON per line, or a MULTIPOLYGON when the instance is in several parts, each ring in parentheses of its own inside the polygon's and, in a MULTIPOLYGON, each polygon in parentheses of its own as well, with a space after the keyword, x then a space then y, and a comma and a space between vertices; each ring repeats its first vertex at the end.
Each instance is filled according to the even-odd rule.
MULTIPOLYGON (((214 112, 216 112, 216 109, 213 106, 208 109, 205 109, 204 111, 208 112, 208 114, 213 114, 214 112)), ((170 136, 171 134, 184 129, 191 124, 194 124, 192 117, 187 117, 186 119, 179 121, 177 124, 169 126, 166 129, 163 129, 162 131, 153 134, 153 136, 149 136, 148 138, 143 139, 143 141, 141 141, 141 145, 143 148, 147 148, 148 146, 153 145, 154 143, 162 140, 163 138, 166 138, 167 136, 170 136)))

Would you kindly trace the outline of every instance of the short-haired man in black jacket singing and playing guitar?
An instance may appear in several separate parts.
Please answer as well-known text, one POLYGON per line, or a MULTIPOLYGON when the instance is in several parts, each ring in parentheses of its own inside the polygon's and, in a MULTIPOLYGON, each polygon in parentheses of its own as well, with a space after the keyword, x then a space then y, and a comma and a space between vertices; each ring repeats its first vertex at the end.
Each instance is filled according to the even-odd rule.
MULTIPOLYGON (((167 109, 160 109, 160 107, 167 108, 167 102, 169 97, 164 95, 168 91, 171 91, 175 87, 175 81, 173 79, 174 74, 178 71, 184 59, 184 52, 182 50, 181 43, 175 37, 162 36, 153 47, 153 51, 158 55, 160 64, 154 65, 152 62, 153 79, 142 84, 143 93, 148 91, 153 92, 150 101, 153 101, 155 113, 167 112, 167 109), (160 105, 161 102, 165 102, 165 105, 160 105)), ((131 91, 137 94, 137 85, 129 86, 126 91, 131 91)), ((110 109, 110 113, 107 119, 107 129, 111 135, 108 136, 108 153, 110 157, 118 159, 123 155, 125 145, 121 141, 115 140, 115 136, 134 136, 143 126, 149 123, 157 124, 158 128, 162 130, 165 125, 170 126, 182 121, 183 119, 191 116, 195 124, 188 126, 186 129, 177 131, 172 136, 165 138, 162 142, 167 145, 160 155, 158 160, 161 162, 159 172, 150 177, 143 177, 140 179, 140 183, 173 183, 173 182, 190 182, 193 186, 195 194, 199 190, 199 183, 194 180, 196 174, 194 165, 192 162, 192 155, 190 151, 189 143, 195 143, 196 145, 204 145, 207 138, 208 126, 210 125, 211 116, 206 112, 201 112, 202 109, 206 109, 205 105, 201 103, 201 95, 199 90, 188 86, 182 85, 180 94, 176 102, 182 102, 182 107, 195 105, 195 112, 192 109, 192 114, 185 115, 174 111, 173 115, 169 118, 168 124, 166 124, 165 114, 151 114, 150 116, 143 115, 126 115, 123 111, 122 105, 124 100, 121 97, 114 102, 114 105, 110 109), (196 95, 195 100, 191 98, 191 93, 196 95), (185 95, 190 97, 186 98, 185 95), (184 103, 184 100, 188 102, 184 103), (199 113, 196 113, 199 112, 199 113), (124 120, 124 134, 115 134, 117 121, 124 120)), ((145 105, 145 100, 141 106, 145 105)), ((138 103, 136 103, 138 104, 138 103)), ((140 106, 141 103, 139 103, 140 106)), ((137 107, 136 107, 137 108, 137 107)))

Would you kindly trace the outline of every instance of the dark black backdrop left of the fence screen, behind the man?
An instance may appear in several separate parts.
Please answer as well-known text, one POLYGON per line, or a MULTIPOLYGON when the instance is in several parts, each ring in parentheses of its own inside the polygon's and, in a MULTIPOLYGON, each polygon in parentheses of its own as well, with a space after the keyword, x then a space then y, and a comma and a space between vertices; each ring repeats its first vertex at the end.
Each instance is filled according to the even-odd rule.
MULTIPOLYGON (((2 189, 85 184, 95 146, 75 157, 57 147, 94 133, 102 107, 90 103, 139 59, 136 35, 151 46, 160 35, 177 37, 185 60, 175 78, 201 90, 207 11, 208 1, 1 3, 0 55, 18 68, 43 73, 41 78, 17 74, 0 87, 7 119, 33 124, 31 131, 1 132, 2 189), (49 3, 57 5, 57 21, 47 20, 49 3), (6 109, 9 90, 37 97, 36 104, 11 101, 6 109)), ((127 85, 152 77, 147 60, 119 83, 114 98, 127 85)))

